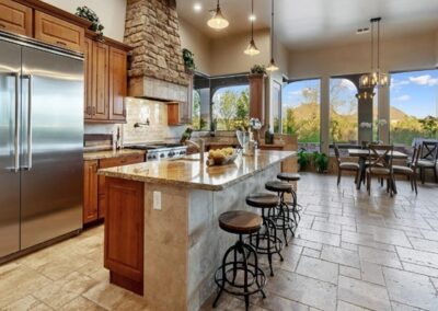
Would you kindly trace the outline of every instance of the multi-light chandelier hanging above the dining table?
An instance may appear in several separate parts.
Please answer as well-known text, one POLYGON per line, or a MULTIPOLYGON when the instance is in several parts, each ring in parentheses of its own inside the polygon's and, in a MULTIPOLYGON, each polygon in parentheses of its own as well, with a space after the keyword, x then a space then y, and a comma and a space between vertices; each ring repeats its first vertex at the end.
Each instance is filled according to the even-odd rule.
POLYGON ((390 84, 390 77, 380 70, 380 21, 381 18, 371 19, 371 72, 362 74, 359 79, 359 87, 361 89, 369 89, 374 87, 388 87, 390 84), (374 67, 374 33, 377 24, 377 66, 374 67))

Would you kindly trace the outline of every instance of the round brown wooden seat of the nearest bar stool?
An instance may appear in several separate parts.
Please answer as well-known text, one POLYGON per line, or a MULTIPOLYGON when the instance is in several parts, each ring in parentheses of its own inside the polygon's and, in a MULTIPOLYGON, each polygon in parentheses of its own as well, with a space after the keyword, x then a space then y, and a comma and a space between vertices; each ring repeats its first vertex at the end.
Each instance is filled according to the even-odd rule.
POLYGON ((245 210, 230 210, 219 216, 219 227, 229 233, 251 234, 262 227, 263 218, 245 210))

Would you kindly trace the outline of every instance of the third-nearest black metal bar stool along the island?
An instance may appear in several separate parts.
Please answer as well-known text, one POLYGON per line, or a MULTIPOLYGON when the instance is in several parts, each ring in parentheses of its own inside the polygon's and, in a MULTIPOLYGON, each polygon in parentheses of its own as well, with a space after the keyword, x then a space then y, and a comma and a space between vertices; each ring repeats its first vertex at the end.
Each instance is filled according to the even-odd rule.
POLYGON ((272 181, 265 184, 265 188, 269 192, 277 193, 280 201, 278 204, 278 212, 270 216, 269 218, 274 220, 277 229, 283 230, 283 235, 285 237, 286 246, 288 246, 287 232, 288 230, 295 237, 293 223, 295 220, 290 217, 289 206, 285 201, 285 194, 291 194, 292 185, 286 182, 272 181))

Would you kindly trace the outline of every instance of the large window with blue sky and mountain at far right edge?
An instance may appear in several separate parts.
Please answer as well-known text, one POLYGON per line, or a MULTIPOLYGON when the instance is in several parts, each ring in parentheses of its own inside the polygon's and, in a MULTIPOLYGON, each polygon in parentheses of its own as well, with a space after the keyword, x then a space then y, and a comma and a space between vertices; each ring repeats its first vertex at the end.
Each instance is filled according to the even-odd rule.
POLYGON ((410 149, 415 138, 437 138, 438 70, 391 74, 390 136, 410 149))

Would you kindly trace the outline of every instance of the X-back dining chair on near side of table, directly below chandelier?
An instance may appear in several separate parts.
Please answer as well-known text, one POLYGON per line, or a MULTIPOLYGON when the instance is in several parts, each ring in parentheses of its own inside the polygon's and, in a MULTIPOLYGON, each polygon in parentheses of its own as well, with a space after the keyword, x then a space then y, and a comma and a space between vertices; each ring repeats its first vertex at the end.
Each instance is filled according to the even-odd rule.
POLYGON ((368 194, 371 194, 371 177, 377 176, 378 178, 387 180, 387 192, 392 197, 395 188, 392 171, 394 146, 369 145, 368 149, 369 166, 366 170, 368 194))

